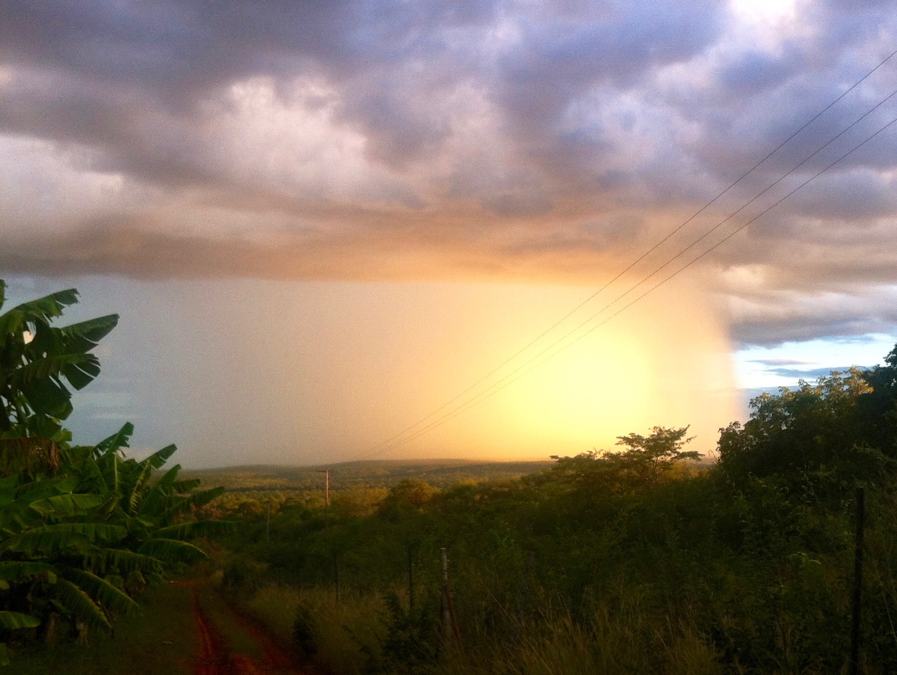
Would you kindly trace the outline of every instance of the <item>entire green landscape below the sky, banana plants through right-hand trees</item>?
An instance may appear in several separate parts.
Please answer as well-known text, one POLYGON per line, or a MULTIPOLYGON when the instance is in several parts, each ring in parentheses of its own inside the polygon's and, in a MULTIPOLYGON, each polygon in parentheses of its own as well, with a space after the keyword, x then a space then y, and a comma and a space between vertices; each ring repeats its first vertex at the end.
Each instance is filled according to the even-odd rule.
POLYGON ((173 445, 128 458, 131 425, 74 445, 71 390, 100 373, 92 350, 117 321, 56 327, 76 300, 0 314, 0 659, 12 646, 13 669, 165 671, 164 650, 98 639, 118 625, 131 650, 152 649, 165 624, 180 627, 164 641, 170 671, 188 670, 190 622, 171 612, 192 594, 193 611, 205 598, 231 617, 218 630, 233 644, 255 631, 237 606, 309 672, 847 673, 861 488, 858 672, 897 671, 897 347, 873 370, 754 399, 712 463, 687 427, 657 426, 542 464, 337 466, 325 504, 317 468, 185 478, 167 466, 173 445), (144 593, 198 560, 190 594, 144 593))

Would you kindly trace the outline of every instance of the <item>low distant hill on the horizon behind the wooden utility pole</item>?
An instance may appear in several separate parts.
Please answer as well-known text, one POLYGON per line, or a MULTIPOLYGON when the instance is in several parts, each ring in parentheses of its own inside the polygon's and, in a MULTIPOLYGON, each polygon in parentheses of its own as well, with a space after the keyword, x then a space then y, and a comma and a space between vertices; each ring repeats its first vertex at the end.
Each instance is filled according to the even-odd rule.
MULTIPOLYGON (((536 473, 553 461, 368 460, 328 465, 330 488, 393 487, 405 478, 421 478, 436 487, 465 480, 507 480, 536 473)), ((256 490, 318 490, 324 487, 325 465, 286 467, 246 465, 184 471, 184 478, 202 478, 204 487, 221 486, 231 492, 256 490)))

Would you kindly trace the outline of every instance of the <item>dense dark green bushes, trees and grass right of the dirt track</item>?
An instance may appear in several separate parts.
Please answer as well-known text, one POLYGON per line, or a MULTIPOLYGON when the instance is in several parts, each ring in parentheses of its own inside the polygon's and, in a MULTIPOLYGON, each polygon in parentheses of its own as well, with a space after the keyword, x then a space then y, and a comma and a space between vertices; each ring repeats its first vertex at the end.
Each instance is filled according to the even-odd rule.
POLYGON ((846 672, 865 487, 860 671, 893 672, 895 390, 897 349, 764 394, 712 465, 656 427, 521 478, 274 502, 219 541, 222 585, 327 671, 846 672))

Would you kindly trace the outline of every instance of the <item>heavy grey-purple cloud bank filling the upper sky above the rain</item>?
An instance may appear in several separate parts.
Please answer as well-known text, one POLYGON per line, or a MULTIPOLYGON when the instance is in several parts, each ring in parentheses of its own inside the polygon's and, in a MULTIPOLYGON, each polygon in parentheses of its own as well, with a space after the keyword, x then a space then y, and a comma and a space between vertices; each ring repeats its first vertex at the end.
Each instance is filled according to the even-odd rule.
MULTIPOLYGON (((13 0, 0 270, 600 281, 893 51, 895 9, 13 0)), ((897 57, 660 253, 895 90, 897 57)), ((897 116, 895 101, 695 251, 897 116)), ((894 157, 897 125, 707 257, 737 340, 897 325, 894 157)))

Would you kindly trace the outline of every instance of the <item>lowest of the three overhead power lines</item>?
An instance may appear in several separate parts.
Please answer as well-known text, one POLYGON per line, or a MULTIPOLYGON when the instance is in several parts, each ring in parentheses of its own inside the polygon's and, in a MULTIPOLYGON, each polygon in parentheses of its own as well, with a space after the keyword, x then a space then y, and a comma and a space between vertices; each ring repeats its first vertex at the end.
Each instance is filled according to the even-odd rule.
MULTIPOLYGON (((893 95, 894 95, 894 94, 892 94, 892 96, 893 96, 893 95)), ((890 96, 889 96, 888 98, 890 98, 890 96)), ((876 107, 877 107, 877 106, 876 106, 876 107)), ((870 110, 870 112, 871 112, 871 110, 870 110)), ((865 116, 864 116, 864 117, 865 117, 865 116)), ((539 366, 541 366, 541 365, 547 363, 548 361, 550 361, 551 359, 553 359, 554 356, 561 354, 563 351, 565 351, 566 349, 568 349, 570 346, 575 345, 575 344, 576 344, 577 342, 579 342, 579 340, 581 340, 583 337, 586 337, 586 336, 588 336, 590 333, 592 333, 593 331, 595 331, 595 330, 601 328, 601 326, 605 325, 605 323, 607 323, 607 321, 614 319, 615 316, 617 316, 617 315, 620 314, 621 312, 623 312, 623 311, 629 309, 633 304, 635 304, 636 302, 639 302, 642 298, 644 298, 646 295, 652 293, 652 292, 653 292, 654 290, 656 290, 659 286, 666 284, 667 281, 669 281, 669 280, 672 279, 673 277, 679 275, 681 272, 683 272, 683 271, 684 271, 685 269, 687 269, 688 267, 692 267, 692 265, 693 265, 695 262, 697 262, 698 260, 702 259, 702 258, 703 258, 704 256, 706 256, 707 254, 709 254, 710 251, 717 249, 718 246, 720 246, 721 244, 725 243, 726 241, 728 241, 729 239, 731 239, 732 237, 734 237, 738 232, 741 232, 742 230, 744 230, 745 227, 747 227, 748 225, 752 224, 754 221, 756 221, 756 220, 757 220, 758 218, 760 218, 762 215, 765 215, 765 214, 769 213, 773 208, 775 208, 776 206, 779 206, 779 204, 781 204, 783 201, 785 201, 786 199, 788 199, 788 197, 791 197, 791 195, 793 195, 794 193, 796 193, 797 190, 799 190, 799 189, 801 189, 801 188, 804 188, 809 182, 811 182, 812 180, 815 180, 816 178, 818 178, 819 176, 821 176, 825 171, 828 171, 829 169, 831 169, 832 166, 834 166, 835 164, 837 164, 837 163, 841 162, 842 160, 844 160, 844 159, 845 159, 846 157, 848 157, 851 153, 856 152, 860 147, 862 147, 863 145, 866 145, 869 141, 871 141, 873 138, 875 138, 875 136, 878 136, 879 134, 881 134, 882 132, 884 132, 884 130, 886 130, 887 128, 892 127, 893 124, 895 124, 895 123, 897 123, 897 118, 893 118, 890 122, 888 122, 886 125, 884 125, 884 127, 881 127, 881 128, 878 129, 874 134, 872 134, 871 136, 868 136, 868 137, 867 137, 865 140, 863 140, 861 143, 859 143, 858 145, 855 145, 854 147, 852 147, 847 153, 843 153, 842 155, 840 155, 840 157, 839 157, 838 159, 836 159, 834 162, 832 162, 832 163, 828 164, 827 166, 825 166, 825 168, 823 168, 821 171, 817 171, 816 173, 814 173, 813 176, 811 176, 810 178, 808 178, 807 180, 805 180, 803 183, 801 183, 800 185, 798 185, 797 188, 792 189, 792 190, 791 190, 790 192, 788 192, 788 194, 786 194, 784 197, 780 197, 779 200, 777 200, 776 202, 774 202, 773 204, 771 204, 771 206, 766 207, 766 208, 763 209, 759 214, 754 215, 753 218, 751 218, 750 220, 748 220, 745 224, 742 224, 741 226, 739 226, 738 228, 736 228, 736 230, 734 230, 733 232, 730 232, 729 234, 727 234, 726 237, 724 237, 723 239, 721 239, 721 240, 718 241, 717 243, 713 244, 709 249, 704 250, 701 254, 699 254, 698 256, 696 256, 695 258, 693 258, 692 260, 690 260, 689 262, 687 262, 683 267, 680 267, 679 269, 677 269, 677 270, 676 270, 674 273, 672 273, 671 275, 666 276, 666 278, 664 278, 663 280, 661 280, 660 282, 658 282, 658 284, 651 286, 651 287, 650 287, 647 291, 645 291, 643 294, 640 294, 639 297, 637 297, 637 298, 635 298, 634 300, 632 300, 631 302, 629 302, 629 303, 623 305, 623 307, 621 307, 621 308, 620 308, 619 310, 617 310, 617 311, 614 311, 614 313, 611 314, 609 317, 607 317, 605 320, 602 320, 602 321, 599 322, 596 326, 593 326, 591 329, 588 329, 585 333, 583 333, 583 334, 580 335, 579 337, 576 337, 575 339, 571 340, 567 345, 562 346, 560 349, 558 349, 558 350, 557 350, 556 352, 554 352, 552 355, 549 355, 549 356, 548 356, 547 358, 545 358, 543 361, 541 361, 541 362, 539 362, 538 364, 534 365, 532 368, 528 369, 528 370, 525 371, 524 373, 519 374, 519 375, 518 375, 516 378, 514 378, 513 380, 510 380, 510 381, 505 382, 505 383, 504 383, 501 387, 499 387, 498 389, 493 389, 497 384, 500 384, 500 383, 501 383, 501 381, 496 382, 496 384, 495 384, 495 385, 492 385, 492 387, 490 388, 490 389, 492 389, 492 391, 490 391, 490 389, 483 390, 483 392, 481 392, 480 394, 478 394, 474 399, 470 399, 470 400, 467 401, 465 404, 462 404, 462 406, 460 406, 459 408, 456 408, 454 411, 452 411, 452 412, 450 412, 450 413, 447 413, 445 416, 440 417, 440 419, 438 419, 438 420, 432 422, 431 425, 427 425, 427 426, 423 427, 421 430, 419 430, 418 432, 415 432, 414 434, 408 436, 407 438, 403 439, 402 441, 399 441, 399 442, 397 442, 397 443, 393 443, 393 444, 390 445, 388 448, 386 448, 386 449, 384 450, 384 452, 388 452, 388 451, 394 450, 395 448, 399 447, 400 445, 404 445, 405 443, 408 443, 409 441, 412 441, 412 440, 414 440, 415 438, 417 438, 417 437, 419 437, 419 436, 421 436, 421 435, 423 435, 423 434, 427 434, 427 433, 429 433, 430 431, 432 431, 433 429, 435 429, 437 426, 441 426, 441 425, 446 424, 448 421, 454 419, 455 417, 461 415, 462 413, 465 413, 465 412, 466 412, 467 410, 469 410, 470 408, 474 408, 476 405, 479 405, 479 404, 482 403, 485 399, 489 399, 489 398, 491 398, 494 394, 497 394, 499 391, 504 390, 505 388, 509 387, 511 384, 513 384, 514 382, 518 381, 520 378, 525 377, 525 376, 526 376, 527 374, 529 374, 529 373, 532 373, 534 370, 536 370, 536 368, 538 368, 539 366), (488 392, 488 393, 487 393, 487 392, 488 392)), ((851 126, 852 126, 852 125, 851 125, 851 126)), ((845 129, 845 130, 846 130, 846 129, 845 129)), ((842 132, 842 133, 843 133, 843 132, 842 132)), ((840 136, 840 135, 839 135, 839 136, 840 136)), ((828 144, 826 144, 826 145, 828 145, 828 144)), ((817 151, 817 152, 818 152, 818 151, 817 151)), ((793 171, 793 170, 792 170, 792 171, 793 171)), ((716 228, 714 228, 714 229, 716 229, 716 228)), ((700 241, 700 240, 698 240, 698 241, 700 241)), ((693 245, 693 244, 692 244, 692 245, 693 245)), ((689 248, 691 248, 691 246, 690 246, 689 248)), ((687 250, 687 249, 686 249, 686 250, 687 250)), ((677 254, 676 257, 678 257, 678 255, 680 255, 680 254, 677 254)), ((666 267, 666 264, 668 264, 668 263, 665 263, 664 267, 666 267)), ((656 271, 657 271, 657 270, 656 270, 656 271)), ((650 276, 653 276, 653 274, 655 274, 655 273, 652 272, 650 276)), ((649 277, 646 277, 646 280, 647 280, 647 278, 649 278, 649 277)), ((640 282, 640 284, 643 283, 644 281, 645 281, 645 280, 642 280, 642 282, 640 282)), ((639 284, 639 285, 640 285, 640 284, 639 284)), ((634 288, 634 287, 635 287, 635 286, 633 286, 633 288, 634 288)), ((629 291, 627 291, 626 293, 628 294, 631 290, 632 290, 632 288, 631 288, 629 291)), ((618 297, 617 300, 619 300, 619 299, 622 298, 622 297, 623 297, 623 295, 621 295, 620 297, 618 297)), ((615 300, 614 302, 616 302, 616 300, 615 300)), ((613 304, 613 302, 612 302, 611 304, 613 304)), ((606 309, 606 308, 605 308, 605 309, 606 309)), ((599 313, 600 313, 600 312, 599 312, 599 313)), ((596 316, 597 316, 597 315, 596 315, 596 316)), ((595 318, 595 317, 592 317, 592 319, 594 319, 594 318, 595 318)), ((589 319, 589 320, 591 320, 591 319, 589 319)), ((564 337, 562 337, 561 340, 558 340, 557 342, 553 343, 553 346, 556 346, 557 344, 559 344, 560 342, 562 342, 562 341, 563 341, 564 339, 566 339, 567 337, 570 337, 570 335, 571 335, 573 332, 575 332, 576 330, 579 330, 579 328, 582 328, 583 325, 584 325, 584 324, 580 324, 579 327, 577 327, 577 329, 574 329, 574 330, 570 331, 570 333, 568 333, 567 335, 565 335, 564 337)), ((539 355, 544 354, 546 351, 548 351, 548 350, 551 349, 551 348, 552 348, 551 346, 548 347, 548 348, 545 349, 543 352, 541 352, 539 355)), ((539 355, 536 355, 536 357, 534 357, 533 359, 530 359, 530 361, 528 361, 527 364, 532 363, 532 361, 535 360, 536 358, 538 358, 539 355)), ((524 366, 527 365, 527 364, 524 364, 524 366)), ((520 366, 520 368, 522 368, 522 367, 524 367, 524 366, 520 366)), ((518 370, 519 370, 519 368, 518 368, 518 370)), ((515 371, 515 373, 516 373, 516 372, 518 372, 518 371, 515 371)))

